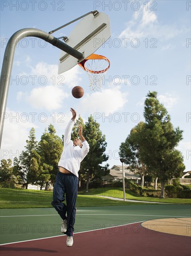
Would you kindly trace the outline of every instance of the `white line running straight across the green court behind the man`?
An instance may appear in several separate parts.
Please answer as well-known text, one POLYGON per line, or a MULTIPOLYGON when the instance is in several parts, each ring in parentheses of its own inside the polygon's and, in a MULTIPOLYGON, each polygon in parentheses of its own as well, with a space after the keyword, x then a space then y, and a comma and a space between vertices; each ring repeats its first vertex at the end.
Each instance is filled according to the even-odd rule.
MULTIPOLYGON (((149 216, 149 217, 180 217, 180 218, 190 218, 191 216, 173 216, 173 215, 140 215, 140 214, 102 214, 102 213, 84 213, 76 214, 76 216, 83 215, 100 215, 100 216, 149 216)), ((59 216, 58 214, 45 214, 45 215, 15 215, 15 216, 0 216, 3 217, 32 217, 32 216, 59 216)))

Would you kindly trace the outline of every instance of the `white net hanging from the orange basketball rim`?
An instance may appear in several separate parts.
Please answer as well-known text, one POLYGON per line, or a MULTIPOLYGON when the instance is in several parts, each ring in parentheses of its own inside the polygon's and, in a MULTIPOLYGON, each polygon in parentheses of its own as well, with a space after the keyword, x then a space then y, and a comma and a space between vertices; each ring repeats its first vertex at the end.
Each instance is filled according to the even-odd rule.
POLYGON ((84 64, 89 75, 90 90, 99 91, 102 88, 103 77, 108 71, 109 63, 104 59, 88 60, 84 64))

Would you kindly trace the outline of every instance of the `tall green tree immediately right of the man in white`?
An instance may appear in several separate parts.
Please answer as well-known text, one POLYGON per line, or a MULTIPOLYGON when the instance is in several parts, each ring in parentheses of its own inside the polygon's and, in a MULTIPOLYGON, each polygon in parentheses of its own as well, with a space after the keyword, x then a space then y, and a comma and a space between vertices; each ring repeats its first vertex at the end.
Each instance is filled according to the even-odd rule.
POLYGON ((85 124, 83 135, 89 143, 89 153, 81 163, 81 173, 86 175, 86 192, 88 192, 90 179, 108 174, 108 165, 101 166, 102 162, 108 160, 108 156, 104 153, 107 142, 100 130, 100 124, 94 121, 92 115, 85 124))

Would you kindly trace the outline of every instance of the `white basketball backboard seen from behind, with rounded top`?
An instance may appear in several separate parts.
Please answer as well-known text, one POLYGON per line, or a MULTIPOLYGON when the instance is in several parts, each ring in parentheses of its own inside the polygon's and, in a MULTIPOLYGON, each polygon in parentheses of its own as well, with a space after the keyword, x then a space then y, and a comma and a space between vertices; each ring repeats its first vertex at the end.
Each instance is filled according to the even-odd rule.
MULTIPOLYGON (((84 58, 93 54, 111 36, 110 20, 107 14, 89 14, 84 17, 68 36, 66 44, 84 54, 84 58)), ((82 60, 80 60, 82 61, 82 60)), ((76 66, 79 61, 70 54, 61 52, 58 74, 76 66)))

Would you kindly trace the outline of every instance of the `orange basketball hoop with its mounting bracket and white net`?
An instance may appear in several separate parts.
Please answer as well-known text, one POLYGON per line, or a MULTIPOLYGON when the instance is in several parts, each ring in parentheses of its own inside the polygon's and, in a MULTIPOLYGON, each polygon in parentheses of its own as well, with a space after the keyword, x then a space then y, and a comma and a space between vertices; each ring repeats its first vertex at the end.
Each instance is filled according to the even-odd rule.
POLYGON ((89 57, 78 63, 89 75, 90 90, 99 91, 102 88, 103 76, 109 69, 108 58, 98 54, 91 54, 89 57))

